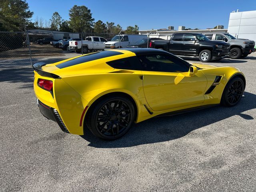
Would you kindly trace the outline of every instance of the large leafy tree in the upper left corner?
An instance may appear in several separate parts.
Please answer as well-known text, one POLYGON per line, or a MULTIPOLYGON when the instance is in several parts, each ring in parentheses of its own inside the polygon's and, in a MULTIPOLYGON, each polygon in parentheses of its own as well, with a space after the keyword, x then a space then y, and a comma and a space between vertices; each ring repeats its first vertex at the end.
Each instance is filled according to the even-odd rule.
POLYGON ((32 15, 26 0, 1 0, 0 30, 22 31, 32 15))

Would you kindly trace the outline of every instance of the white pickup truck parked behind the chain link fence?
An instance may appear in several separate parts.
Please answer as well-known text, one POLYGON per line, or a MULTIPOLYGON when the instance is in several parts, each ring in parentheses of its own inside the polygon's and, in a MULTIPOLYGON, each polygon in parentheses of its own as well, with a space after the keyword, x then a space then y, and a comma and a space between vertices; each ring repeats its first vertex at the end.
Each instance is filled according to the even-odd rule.
MULTIPOLYGON (((87 53, 88 51, 94 50, 104 50, 105 42, 108 42, 103 37, 86 37, 85 40, 82 41, 83 44, 83 53, 87 53)), ((74 50, 76 53, 82 52, 81 41, 70 41, 69 42, 70 50, 74 50)))

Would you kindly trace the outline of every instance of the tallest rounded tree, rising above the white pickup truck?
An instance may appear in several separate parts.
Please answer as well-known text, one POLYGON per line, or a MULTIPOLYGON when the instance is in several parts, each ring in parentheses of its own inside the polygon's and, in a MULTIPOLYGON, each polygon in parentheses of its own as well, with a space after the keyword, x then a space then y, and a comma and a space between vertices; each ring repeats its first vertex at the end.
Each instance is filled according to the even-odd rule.
POLYGON ((92 18, 91 10, 86 6, 74 5, 69 10, 70 28, 74 32, 89 32, 92 29, 94 18, 92 18))

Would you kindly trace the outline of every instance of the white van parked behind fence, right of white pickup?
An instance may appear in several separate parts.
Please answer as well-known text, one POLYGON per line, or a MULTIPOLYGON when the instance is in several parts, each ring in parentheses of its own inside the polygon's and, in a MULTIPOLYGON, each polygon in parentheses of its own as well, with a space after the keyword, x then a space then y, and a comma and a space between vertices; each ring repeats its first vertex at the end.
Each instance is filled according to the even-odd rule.
POLYGON ((119 48, 119 40, 120 40, 120 48, 126 48, 128 44, 134 44, 139 40, 144 38, 148 38, 147 35, 116 35, 112 38, 111 41, 106 42, 106 48, 119 48))

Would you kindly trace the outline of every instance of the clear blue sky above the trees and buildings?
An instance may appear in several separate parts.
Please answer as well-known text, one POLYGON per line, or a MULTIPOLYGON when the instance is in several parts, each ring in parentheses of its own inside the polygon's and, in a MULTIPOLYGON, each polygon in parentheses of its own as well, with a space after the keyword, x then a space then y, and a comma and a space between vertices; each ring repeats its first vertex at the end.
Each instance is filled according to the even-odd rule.
POLYGON ((74 5, 87 6, 95 21, 114 22, 123 29, 137 24, 140 30, 186 26, 186 28, 212 28, 218 24, 228 28, 229 14, 233 10, 256 10, 256 0, 27 0, 36 16, 49 20, 57 11, 68 20, 68 10, 74 5))

